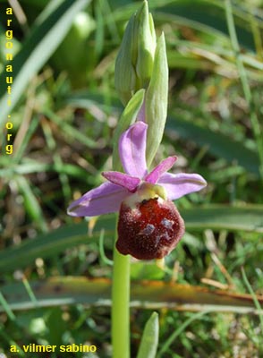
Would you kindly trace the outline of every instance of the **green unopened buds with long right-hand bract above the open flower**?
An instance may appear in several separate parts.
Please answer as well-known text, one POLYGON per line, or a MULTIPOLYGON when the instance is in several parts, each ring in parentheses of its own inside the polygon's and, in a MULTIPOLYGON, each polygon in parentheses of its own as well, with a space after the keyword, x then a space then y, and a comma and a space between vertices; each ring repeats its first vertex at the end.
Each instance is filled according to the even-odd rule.
POLYGON ((163 138, 167 115, 168 64, 165 36, 158 39, 148 2, 129 21, 115 63, 115 87, 125 106, 134 93, 145 89, 137 120, 148 124, 147 163, 151 165, 163 138))

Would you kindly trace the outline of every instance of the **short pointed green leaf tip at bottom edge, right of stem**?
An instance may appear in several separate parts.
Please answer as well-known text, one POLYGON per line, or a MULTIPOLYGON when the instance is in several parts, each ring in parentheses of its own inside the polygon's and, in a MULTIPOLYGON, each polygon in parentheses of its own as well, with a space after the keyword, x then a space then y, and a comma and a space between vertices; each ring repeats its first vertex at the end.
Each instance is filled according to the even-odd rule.
POLYGON ((137 358, 155 358, 159 339, 159 322, 157 312, 152 312, 140 341, 137 358))

